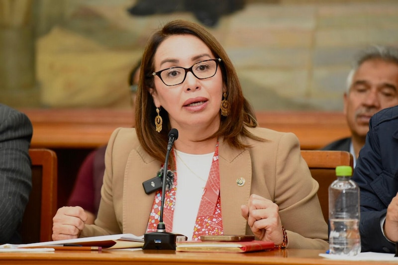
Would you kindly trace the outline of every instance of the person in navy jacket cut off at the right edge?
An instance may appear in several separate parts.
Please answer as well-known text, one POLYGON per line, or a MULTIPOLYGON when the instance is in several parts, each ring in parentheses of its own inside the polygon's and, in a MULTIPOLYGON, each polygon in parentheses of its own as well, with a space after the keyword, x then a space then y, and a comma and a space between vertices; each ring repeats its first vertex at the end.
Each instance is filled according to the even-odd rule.
POLYGON ((398 106, 376 113, 352 177, 360 187, 362 251, 395 253, 398 242, 398 106))

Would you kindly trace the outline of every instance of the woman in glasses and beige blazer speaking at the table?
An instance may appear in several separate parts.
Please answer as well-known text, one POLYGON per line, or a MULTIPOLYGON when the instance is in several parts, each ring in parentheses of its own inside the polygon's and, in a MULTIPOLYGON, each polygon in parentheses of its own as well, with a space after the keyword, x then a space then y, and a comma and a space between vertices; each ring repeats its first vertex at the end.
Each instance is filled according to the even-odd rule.
POLYGON ((167 23, 145 48, 140 81, 136 129, 119 128, 108 143, 95 225, 84 224, 81 208, 63 207, 54 217, 54 240, 156 231, 161 194, 147 195, 141 183, 162 167, 176 128, 167 231, 194 240, 254 234, 279 248, 328 248, 318 184, 297 137, 257 128, 231 61, 208 31, 167 23))

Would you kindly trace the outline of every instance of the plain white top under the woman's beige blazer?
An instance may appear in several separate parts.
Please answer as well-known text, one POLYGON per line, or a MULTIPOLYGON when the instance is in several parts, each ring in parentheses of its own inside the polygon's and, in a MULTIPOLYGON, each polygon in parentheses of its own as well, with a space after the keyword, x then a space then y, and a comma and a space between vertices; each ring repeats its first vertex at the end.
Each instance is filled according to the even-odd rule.
POLYGON ((214 152, 204 155, 191 155, 175 149, 174 152, 177 163, 177 192, 173 233, 185 235, 191 240, 214 152))

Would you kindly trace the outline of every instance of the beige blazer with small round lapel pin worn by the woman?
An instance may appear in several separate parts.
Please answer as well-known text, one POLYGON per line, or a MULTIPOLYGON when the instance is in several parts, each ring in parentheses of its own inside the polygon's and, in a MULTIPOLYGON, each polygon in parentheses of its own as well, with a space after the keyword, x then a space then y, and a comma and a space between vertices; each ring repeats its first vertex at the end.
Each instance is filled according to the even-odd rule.
MULTIPOLYGON (((289 248, 328 249, 328 228, 316 195, 319 185, 300 155, 298 138, 266 128, 249 130, 267 141, 245 138, 252 145, 245 150, 219 141, 224 234, 252 234, 240 206, 255 193, 278 204, 289 248), (238 178, 245 180, 243 186, 237 184, 238 178)), ((147 195, 142 182, 155 177, 161 164, 143 150, 134 128, 116 129, 105 153, 98 217, 95 225, 86 225, 81 237, 143 235, 155 193, 147 195)))

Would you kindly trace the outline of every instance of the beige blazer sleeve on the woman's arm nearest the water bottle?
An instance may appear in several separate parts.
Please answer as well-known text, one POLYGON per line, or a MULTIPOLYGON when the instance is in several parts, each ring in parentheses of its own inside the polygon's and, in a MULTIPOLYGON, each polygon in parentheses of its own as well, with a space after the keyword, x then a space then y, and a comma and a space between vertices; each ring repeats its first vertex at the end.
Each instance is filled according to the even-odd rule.
POLYGON ((319 184, 311 177, 292 133, 280 139, 275 172, 274 202, 287 230, 288 247, 328 249, 327 224, 317 196, 319 184))

